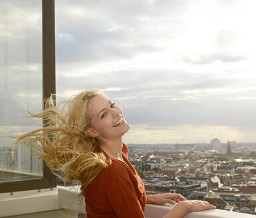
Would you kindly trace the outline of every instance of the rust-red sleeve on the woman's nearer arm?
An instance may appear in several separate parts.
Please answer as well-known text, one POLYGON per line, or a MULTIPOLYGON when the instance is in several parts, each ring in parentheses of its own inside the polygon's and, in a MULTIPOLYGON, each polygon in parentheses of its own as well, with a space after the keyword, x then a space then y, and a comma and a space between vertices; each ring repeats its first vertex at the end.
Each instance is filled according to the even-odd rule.
POLYGON ((144 218, 134 184, 129 177, 117 175, 108 189, 108 200, 118 218, 144 218))

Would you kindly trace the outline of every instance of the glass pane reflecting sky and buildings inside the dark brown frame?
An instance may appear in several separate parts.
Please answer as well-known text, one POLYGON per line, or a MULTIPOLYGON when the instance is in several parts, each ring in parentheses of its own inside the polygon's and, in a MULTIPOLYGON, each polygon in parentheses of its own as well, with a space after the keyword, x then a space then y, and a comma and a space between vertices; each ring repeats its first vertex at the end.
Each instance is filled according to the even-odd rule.
MULTIPOLYGON (((42 106, 41 1, 0 1, 0 135, 23 134, 36 128, 27 109, 42 106)), ((0 139, 0 182, 41 179, 43 161, 13 140, 0 139)))

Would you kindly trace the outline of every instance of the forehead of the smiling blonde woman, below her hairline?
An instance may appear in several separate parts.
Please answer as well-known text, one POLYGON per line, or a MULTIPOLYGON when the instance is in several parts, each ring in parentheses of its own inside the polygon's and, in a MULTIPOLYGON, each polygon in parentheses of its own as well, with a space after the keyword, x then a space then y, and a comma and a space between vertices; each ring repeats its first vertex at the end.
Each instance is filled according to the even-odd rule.
POLYGON ((100 112, 100 110, 102 110, 103 108, 106 108, 109 101, 110 100, 104 96, 100 96, 100 95, 94 96, 88 102, 88 106, 87 106, 88 114, 90 114, 90 116, 95 116, 95 115, 98 116, 98 113, 100 112))

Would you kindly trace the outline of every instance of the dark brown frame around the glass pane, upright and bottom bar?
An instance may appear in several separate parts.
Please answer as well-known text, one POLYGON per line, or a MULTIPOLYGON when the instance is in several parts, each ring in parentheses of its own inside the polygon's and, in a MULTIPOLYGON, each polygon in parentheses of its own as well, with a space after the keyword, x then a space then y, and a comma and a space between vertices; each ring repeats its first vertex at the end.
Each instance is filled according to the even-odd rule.
MULTIPOLYGON (((42 0, 43 102, 56 94, 55 0, 42 0)), ((43 106, 44 108, 44 106, 43 106)), ((0 183, 0 193, 56 187, 56 176, 43 162, 43 178, 0 183)))

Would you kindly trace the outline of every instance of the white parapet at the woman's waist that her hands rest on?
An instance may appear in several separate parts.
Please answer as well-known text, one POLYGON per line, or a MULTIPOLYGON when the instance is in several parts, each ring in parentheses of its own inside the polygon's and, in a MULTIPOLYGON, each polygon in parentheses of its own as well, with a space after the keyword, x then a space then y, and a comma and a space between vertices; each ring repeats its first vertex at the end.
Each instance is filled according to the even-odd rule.
MULTIPOLYGON (((86 213, 85 211, 85 203, 84 199, 80 202, 80 198, 78 197, 80 187, 74 187, 70 189, 70 187, 58 187, 58 201, 59 207, 64 209, 70 209, 73 211, 78 211, 80 213, 86 213)), ((146 218, 160 218, 164 217, 170 209, 172 209, 174 205, 146 205, 144 214, 146 218)), ((207 211, 199 211, 188 213, 185 218, 256 218, 255 215, 247 214, 247 213, 237 213, 231 211, 225 211, 221 209, 211 209, 207 211)))

